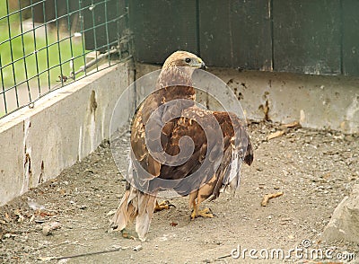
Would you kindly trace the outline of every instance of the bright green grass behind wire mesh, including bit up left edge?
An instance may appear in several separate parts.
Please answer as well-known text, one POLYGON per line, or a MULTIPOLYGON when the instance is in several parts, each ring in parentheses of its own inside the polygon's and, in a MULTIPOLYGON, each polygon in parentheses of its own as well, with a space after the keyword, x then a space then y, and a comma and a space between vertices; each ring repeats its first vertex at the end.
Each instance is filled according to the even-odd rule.
MULTIPOLYGON (((7 14, 4 3, 4 0, 0 0, 0 18, 7 14)), ((50 30, 49 27, 47 38, 45 34, 40 34, 38 31, 36 31, 36 39, 34 39, 33 31, 21 36, 20 16, 17 13, 13 14, 9 20, 10 23, 6 17, 0 19, 0 43, 4 42, 0 44, 3 67, 2 73, 0 72, 0 82, 3 79, 5 88, 20 84, 26 79, 30 79, 31 86, 38 86, 39 82, 41 90, 42 87, 48 88, 50 84, 55 84, 59 80, 61 68, 63 75, 70 75, 73 69, 70 68, 69 60, 72 57, 81 56, 86 52, 83 50, 81 37, 72 39, 70 44, 65 34, 60 33, 64 37, 57 39, 57 29, 50 30), (9 41, 10 38, 13 40, 9 41), (12 64, 17 59, 19 61, 12 64), (48 68, 51 69, 47 71, 48 68), (39 75, 42 71, 45 72, 39 75), (39 75, 39 80, 37 75, 39 75), (48 84, 48 79, 50 84, 48 84)), ((80 66, 83 66, 83 57, 74 59, 74 71, 80 66)))

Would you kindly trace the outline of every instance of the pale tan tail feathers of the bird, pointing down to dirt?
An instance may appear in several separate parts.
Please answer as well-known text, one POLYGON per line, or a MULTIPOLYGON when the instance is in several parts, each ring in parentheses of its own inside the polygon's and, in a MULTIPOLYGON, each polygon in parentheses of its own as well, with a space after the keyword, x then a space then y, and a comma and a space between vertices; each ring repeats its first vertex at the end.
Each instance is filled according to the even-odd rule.
POLYGON ((122 231, 136 220, 138 238, 145 241, 155 204, 156 197, 154 195, 143 193, 131 186, 121 199, 110 227, 112 230, 122 231))

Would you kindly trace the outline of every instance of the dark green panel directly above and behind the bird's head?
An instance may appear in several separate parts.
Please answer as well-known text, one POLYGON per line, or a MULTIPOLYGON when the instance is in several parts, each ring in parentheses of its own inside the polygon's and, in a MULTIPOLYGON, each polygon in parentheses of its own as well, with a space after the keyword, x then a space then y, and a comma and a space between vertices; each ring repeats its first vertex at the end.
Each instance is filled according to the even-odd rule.
POLYGON ((162 63, 178 49, 198 53, 196 6, 188 0, 129 1, 136 60, 162 63))

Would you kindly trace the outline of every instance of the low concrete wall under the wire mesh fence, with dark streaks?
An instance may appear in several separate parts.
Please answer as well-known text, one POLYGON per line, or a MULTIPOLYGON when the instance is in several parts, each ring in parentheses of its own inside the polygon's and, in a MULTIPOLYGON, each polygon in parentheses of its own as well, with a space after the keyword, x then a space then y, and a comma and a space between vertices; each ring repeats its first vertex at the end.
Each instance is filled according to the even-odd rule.
POLYGON ((85 77, 0 119, 0 206, 56 178, 109 138, 114 105, 133 80, 130 65, 85 77))

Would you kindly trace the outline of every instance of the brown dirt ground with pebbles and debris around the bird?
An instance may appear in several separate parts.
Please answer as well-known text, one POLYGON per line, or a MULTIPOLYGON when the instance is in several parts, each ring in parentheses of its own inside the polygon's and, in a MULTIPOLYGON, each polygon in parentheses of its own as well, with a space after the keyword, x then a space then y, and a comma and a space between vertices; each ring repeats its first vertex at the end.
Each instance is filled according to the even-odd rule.
MULTIPOLYGON (((310 249, 331 250, 333 258, 347 260, 356 255, 351 262, 359 261, 358 244, 320 240, 337 204, 359 183, 359 135, 289 128, 283 136, 267 140, 283 129, 251 123, 255 161, 251 167, 242 166, 236 195, 222 193, 214 202, 206 202, 215 218, 194 221, 189 220, 188 198, 171 199, 176 207, 154 214, 147 242, 108 233, 125 181, 109 143, 103 143, 56 180, 0 207, 0 261, 273 263, 283 258, 271 251, 282 250, 287 257, 296 247, 302 254, 291 251, 286 261, 314 262, 310 249), (284 195, 260 206, 264 195, 279 191, 284 195), (257 253, 250 256, 250 250, 257 253)), ((127 140, 128 134, 124 145, 127 140)))

